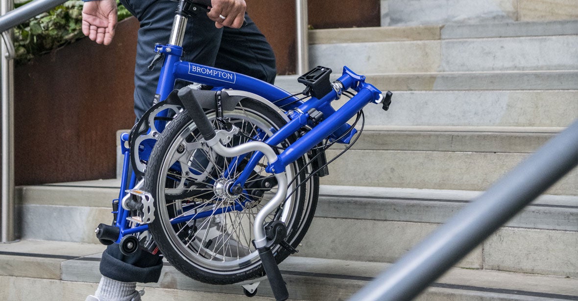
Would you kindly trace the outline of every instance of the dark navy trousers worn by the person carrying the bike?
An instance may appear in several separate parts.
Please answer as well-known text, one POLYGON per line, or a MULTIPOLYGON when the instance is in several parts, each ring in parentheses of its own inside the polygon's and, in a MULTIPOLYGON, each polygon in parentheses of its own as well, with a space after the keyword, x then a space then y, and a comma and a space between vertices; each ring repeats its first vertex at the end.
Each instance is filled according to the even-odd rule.
MULTIPOLYGON (((150 72, 154 44, 169 40, 177 2, 170 0, 121 0, 140 21, 135 66, 135 114, 140 118, 152 105, 157 89, 161 63, 150 72)), ((245 14, 247 22, 240 29, 216 28, 204 12, 187 23, 183 43, 183 61, 214 66, 243 73, 273 83, 276 76, 275 55, 255 23, 245 14)), ((183 85, 183 83, 177 83, 183 85)), ((161 257, 138 250, 127 256, 118 244, 110 245, 102 254, 101 274, 123 282, 157 282, 161 274, 161 257)))

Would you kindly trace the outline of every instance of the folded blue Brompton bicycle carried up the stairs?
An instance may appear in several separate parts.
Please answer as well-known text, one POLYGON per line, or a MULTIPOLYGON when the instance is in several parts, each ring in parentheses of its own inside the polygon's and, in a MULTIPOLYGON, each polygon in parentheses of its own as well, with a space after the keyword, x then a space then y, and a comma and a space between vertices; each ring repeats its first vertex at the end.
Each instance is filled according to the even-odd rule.
POLYGON ((113 223, 95 232, 124 254, 160 252, 186 276, 238 283, 247 296, 266 276, 275 298, 286 300, 277 264, 297 252, 313 219, 319 177, 332 161, 325 150, 335 143, 349 149, 362 108, 382 103, 387 110, 391 92, 383 95, 347 67, 333 82, 331 69, 316 67, 298 78, 303 93, 291 95, 183 62, 184 28, 191 14, 207 9, 202 2, 180 0, 169 43, 154 47, 153 64, 164 59, 155 96, 163 101, 121 137, 113 223), (175 89, 176 80, 190 85, 175 89), (342 95, 350 100, 334 110, 331 101, 342 95))

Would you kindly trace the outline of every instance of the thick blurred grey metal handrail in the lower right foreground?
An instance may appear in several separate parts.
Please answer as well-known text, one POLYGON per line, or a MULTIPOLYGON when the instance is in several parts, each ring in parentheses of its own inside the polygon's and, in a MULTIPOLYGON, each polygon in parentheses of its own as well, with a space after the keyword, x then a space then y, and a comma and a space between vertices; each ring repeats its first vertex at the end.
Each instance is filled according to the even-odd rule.
POLYGON ((578 165, 578 119, 440 226, 351 301, 411 300, 578 165))

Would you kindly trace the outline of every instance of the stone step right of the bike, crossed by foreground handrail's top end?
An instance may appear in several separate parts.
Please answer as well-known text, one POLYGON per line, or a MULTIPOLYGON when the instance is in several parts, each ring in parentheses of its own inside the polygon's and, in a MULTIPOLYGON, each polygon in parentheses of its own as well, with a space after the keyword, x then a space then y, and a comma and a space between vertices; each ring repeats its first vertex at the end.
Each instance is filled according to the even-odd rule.
MULTIPOLYGON (((368 126, 357 143, 329 166, 329 175, 321 183, 482 191, 560 130, 368 126)), ((328 159, 343 148, 333 146, 327 151, 328 159)), ((576 195, 577 192, 578 170, 575 170, 548 193, 576 195)))

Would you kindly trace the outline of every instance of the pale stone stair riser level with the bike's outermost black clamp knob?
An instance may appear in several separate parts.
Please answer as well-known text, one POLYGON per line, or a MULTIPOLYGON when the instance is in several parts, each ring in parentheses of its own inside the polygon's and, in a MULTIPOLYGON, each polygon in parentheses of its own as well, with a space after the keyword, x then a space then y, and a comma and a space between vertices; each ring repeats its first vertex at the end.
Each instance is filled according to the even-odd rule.
POLYGON ((365 124, 566 127, 576 119, 576 99, 576 90, 394 92, 387 112, 368 104, 365 124))

